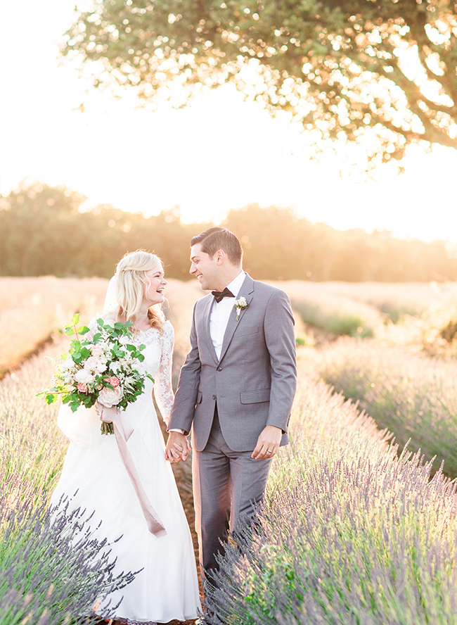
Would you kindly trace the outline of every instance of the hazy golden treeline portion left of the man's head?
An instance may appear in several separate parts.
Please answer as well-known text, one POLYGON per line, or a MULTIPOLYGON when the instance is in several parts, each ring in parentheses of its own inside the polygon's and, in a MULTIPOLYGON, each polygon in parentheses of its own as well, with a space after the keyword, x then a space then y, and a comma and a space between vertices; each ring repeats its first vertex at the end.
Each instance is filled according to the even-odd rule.
MULTIPOLYGON (((124 213, 112 206, 79 211, 83 197, 32 184, 0 200, 2 275, 111 277, 127 251, 144 248, 162 258, 169 277, 188 277, 189 241, 195 226, 169 210, 157 217, 124 213)), ((205 225, 198 225, 198 232, 205 225)))

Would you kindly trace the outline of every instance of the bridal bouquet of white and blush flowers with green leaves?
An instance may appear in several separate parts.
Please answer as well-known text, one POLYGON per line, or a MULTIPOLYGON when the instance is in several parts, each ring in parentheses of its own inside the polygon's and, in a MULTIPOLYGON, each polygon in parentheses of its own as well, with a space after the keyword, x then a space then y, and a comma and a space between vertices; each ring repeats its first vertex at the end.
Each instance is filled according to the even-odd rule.
MULTIPOLYGON (((106 408, 127 408, 144 390, 145 374, 139 372, 138 365, 144 360, 141 351, 146 346, 131 345, 131 322, 110 324, 97 319, 94 336, 89 340, 82 339, 89 328, 77 328, 78 323, 79 315, 74 315, 65 327, 65 334, 75 338, 56 369, 53 386, 38 396, 49 404, 61 396, 73 412, 81 405, 91 408, 97 400, 106 408)), ((146 377, 154 381, 150 374, 146 377)), ((101 431, 112 434, 112 423, 102 422, 101 431)))

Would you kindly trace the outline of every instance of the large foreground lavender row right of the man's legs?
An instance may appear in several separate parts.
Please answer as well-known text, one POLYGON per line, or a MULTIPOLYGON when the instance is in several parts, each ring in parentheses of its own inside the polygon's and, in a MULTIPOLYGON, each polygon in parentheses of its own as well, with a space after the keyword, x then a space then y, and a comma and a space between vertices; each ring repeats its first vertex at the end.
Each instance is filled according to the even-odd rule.
POLYGON ((257 528, 221 557, 211 625, 457 623, 457 495, 304 372, 257 528))

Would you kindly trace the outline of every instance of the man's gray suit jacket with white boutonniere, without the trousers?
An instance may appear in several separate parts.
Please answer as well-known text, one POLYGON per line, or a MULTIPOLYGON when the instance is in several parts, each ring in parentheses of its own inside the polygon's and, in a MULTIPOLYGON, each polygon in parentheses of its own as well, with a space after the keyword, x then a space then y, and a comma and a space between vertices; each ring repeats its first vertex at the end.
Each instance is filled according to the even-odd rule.
POLYGON ((233 306, 219 359, 210 336, 214 297, 201 298, 193 309, 191 351, 179 375, 169 429, 192 428, 198 451, 210 436, 216 403, 222 434, 233 451, 253 450, 266 425, 281 428, 281 445, 288 442, 297 384, 289 298, 248 275, 238 297, 248 306, 238 321, 233 306))

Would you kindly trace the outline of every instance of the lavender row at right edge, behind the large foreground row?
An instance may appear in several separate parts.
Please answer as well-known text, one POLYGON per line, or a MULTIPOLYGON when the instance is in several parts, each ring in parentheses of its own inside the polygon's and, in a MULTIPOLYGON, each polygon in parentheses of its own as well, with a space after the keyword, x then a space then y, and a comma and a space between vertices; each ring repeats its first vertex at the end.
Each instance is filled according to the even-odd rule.
POLYGON ((411 440, 437 469, 457 476, 457 362, 382 346, 339 341, 324 350, 318 374, 345 397, 359 402, 401 447, 411 440))

